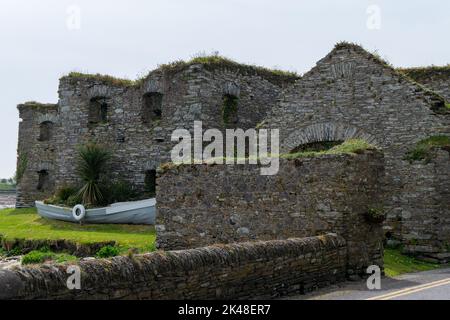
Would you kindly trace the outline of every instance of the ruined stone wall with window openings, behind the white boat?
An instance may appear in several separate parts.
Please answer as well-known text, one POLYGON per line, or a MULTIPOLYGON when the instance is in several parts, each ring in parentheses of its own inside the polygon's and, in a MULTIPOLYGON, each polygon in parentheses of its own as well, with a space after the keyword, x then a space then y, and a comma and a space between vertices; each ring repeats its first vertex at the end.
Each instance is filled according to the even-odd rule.
MULTIPOLYGON (((134 85, 101 76, 65 76, 60 80, 58 104, 51 109, 39 109, 58 123, 54 127, 54 139, 46 143, 53 155, 49 171, 52 185, 77 183, 77 147, 87 141, 99 141, 113 154, 112 178, 124 179, 142 190, 145 172, 169 160, 174 145, 170 141, 173 130, 193 131, 195 120, 203 122, 204 130, 224 130, 228 125, 222 107, 227 94, 238 98, 237 122, 233 126, 255 127, 275 104, 283 87, 283 81, 274 79, 275 76, 272 79, 227 68, 205 68, 201 64, 176 71, 155 70, 134 85), (144 96, 149 93, 162 94, 162 114, 161 119, 145 124, 142 107, 144 96), (92 125, 89 124, 90 101, 96 98, 106 102, 107 119, 92 125)), ((36 117, 31 115, 35 108, 21 105, 19 109, 24 117, 19 128, 19 145, 32 147, 39 135, 36 117), (33 121, 29 120, 32 118, 33 121)), ((33 146, 34 150, 39 147, 33 146)), ((40 158, 36 153, 36 157, 29 159, 29 170, 35 170, 41 159, 49 155, 40 158)), ((32 206, 34 200, 42 199, 43 194, 36 192, 33 179, 34 173, 27 171, 19 183, 18 206, 32 206)))

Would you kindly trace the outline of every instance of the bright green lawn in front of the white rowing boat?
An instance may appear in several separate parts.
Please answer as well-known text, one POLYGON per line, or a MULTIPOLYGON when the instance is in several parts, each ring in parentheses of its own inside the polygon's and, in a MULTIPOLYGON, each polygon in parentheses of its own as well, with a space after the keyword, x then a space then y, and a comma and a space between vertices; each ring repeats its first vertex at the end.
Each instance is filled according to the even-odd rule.
POLYGON ((6 240, 56 240, 77 243, 116 241, 121 251, 135 248, 139 252, 155 250, 153 226, 86 224, 41 218, 35 208, 0 210, 0 235, 6 240))

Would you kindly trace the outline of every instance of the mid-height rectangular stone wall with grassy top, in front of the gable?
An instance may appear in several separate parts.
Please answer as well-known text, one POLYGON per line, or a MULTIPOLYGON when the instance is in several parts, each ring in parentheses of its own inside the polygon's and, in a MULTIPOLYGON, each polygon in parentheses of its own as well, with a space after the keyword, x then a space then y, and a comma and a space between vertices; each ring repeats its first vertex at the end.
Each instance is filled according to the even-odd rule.
POLYGON ((157 180, 157 245, 287 239, 335 232, 349 247, 349 273, 382 264, 381 224, 365 214, 383 205, 383 156, 324 155, 257 165, 180 165, 157 180))

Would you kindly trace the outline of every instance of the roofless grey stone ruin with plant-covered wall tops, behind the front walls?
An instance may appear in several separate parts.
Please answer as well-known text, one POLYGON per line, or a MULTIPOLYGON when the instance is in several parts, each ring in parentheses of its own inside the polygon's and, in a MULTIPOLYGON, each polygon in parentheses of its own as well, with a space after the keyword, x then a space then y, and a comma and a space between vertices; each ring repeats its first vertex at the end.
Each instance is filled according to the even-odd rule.
POLYGON ((76 183, 76 148, 87 141, 108 145, 115 174, 142 190, 170 161, 175 129, 192 131, 195 120, 204 130, 279 128, 287 153, 350 138, 379 147, 389 241, 410 253, 450 258, 449 151, 436 148, 427 162, 405 158, 425 138, 450 136, 448 67, 394 69, 340 43, 302 77, 194 59, 139 81, 71 73, 60 79, 58 93, 57 104, 18 106, 17 207, 76 183))

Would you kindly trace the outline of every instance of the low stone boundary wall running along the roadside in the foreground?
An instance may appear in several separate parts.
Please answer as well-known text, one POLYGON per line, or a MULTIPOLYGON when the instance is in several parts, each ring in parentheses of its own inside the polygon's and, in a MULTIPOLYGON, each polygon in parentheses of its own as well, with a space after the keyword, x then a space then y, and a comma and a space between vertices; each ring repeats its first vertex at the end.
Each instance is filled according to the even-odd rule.
POLYGON ((327 234, 83 260, 81 289, 69 265, 0 270, 0 299, 256 299, 342 281, 346 242, 327 234))

